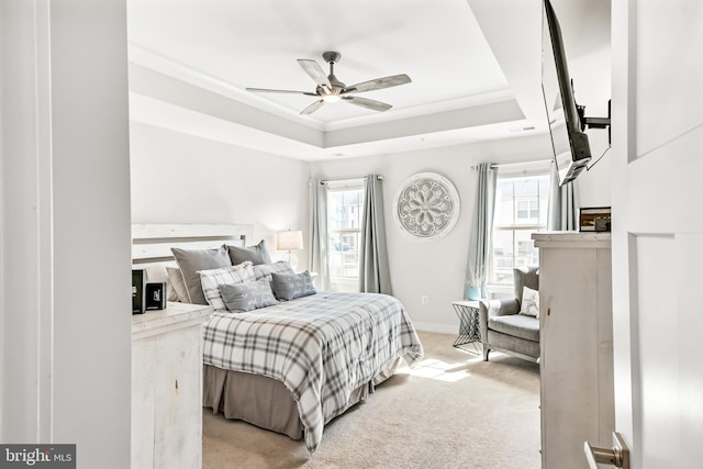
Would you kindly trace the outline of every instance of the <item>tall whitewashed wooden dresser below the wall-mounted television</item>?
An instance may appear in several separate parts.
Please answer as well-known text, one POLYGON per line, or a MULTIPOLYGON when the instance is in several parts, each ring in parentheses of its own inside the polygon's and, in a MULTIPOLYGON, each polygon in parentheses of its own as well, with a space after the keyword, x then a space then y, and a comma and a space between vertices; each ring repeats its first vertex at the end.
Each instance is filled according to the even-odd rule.
POLYGON ((533 235, 539 248, 542 467, 588 469, 583 442, 612 447, 611 234, 533 235))

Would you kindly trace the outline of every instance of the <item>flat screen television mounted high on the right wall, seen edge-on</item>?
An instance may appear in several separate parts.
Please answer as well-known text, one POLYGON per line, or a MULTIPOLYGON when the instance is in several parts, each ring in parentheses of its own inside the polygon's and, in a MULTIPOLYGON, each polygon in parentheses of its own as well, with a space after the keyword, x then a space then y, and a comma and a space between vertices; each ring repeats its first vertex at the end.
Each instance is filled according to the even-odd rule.
POLYGON ((573 98, 561 27, 549 0, 544 0, 542 92, 547 111, 559 186, 576 179, 591 160, 589 137, 582 132, 573 98))

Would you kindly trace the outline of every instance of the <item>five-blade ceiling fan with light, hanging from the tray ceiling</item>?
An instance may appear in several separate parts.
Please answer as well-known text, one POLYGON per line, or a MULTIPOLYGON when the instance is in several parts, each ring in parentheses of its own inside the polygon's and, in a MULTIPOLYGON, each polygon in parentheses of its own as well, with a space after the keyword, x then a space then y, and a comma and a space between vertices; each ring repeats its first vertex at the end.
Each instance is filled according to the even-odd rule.
POLYGON ((305 72, 317 83, 314 92, 310 91, 292 91, 292 90, 271 90, 266 88, 247 88, 247 91, 253 92, 269 92, 269 93, 295 93, 314 96, 317 99, 315 102, 303 109, 301 114, 312 114, 325 103, 333 103, 338 101, 356 104, 361 108, 371 109, 373 111, 388 111, 392 108, 391 104, 387 104, 381 101, 376 101, 368 98, 360 98, 352 96, 362 91, 373 91, 383 88, 397 87, 399 85, 410 83, 411 79, 408 75, 393 75, 391 77, 376 78, 375 80, 362 81, 360 83, 347 87, 337 79, 334 75, 334 64, 339 62, 342 54, 338 52, 325 52, 322 54, 322 58, 330 64, 330 75, 325 75, 322 67, 317 65, 315 60, 299 58, 298 63, 305 70, 305 72))

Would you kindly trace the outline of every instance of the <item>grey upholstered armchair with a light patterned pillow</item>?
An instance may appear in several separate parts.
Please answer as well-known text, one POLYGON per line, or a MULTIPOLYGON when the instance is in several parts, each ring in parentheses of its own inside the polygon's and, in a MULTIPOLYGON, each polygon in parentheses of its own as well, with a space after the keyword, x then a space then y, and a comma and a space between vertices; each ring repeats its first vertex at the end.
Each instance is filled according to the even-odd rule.
POLYGON ((483 344, 483 360, 491 350, 539 361, 539 319, 520 314, 523 287, 539 290, 537 267, 515 268, 514 297, 502 300, 480 300, 479 327, 483 344))

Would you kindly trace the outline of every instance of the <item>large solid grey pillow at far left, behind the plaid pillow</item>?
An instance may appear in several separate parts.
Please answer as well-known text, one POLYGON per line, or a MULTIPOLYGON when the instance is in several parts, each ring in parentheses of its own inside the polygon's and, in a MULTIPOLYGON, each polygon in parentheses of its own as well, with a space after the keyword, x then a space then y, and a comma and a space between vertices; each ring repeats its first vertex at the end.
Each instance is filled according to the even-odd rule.
POLYGON ((212 249, 182 249, 171 247, 171 253, 180 267, 183 282, 188 289, 188 302, 193 304, 208 304, 200 284, 199 270, 216 269, 232 266, 227 248, 215 247, 212 249))

